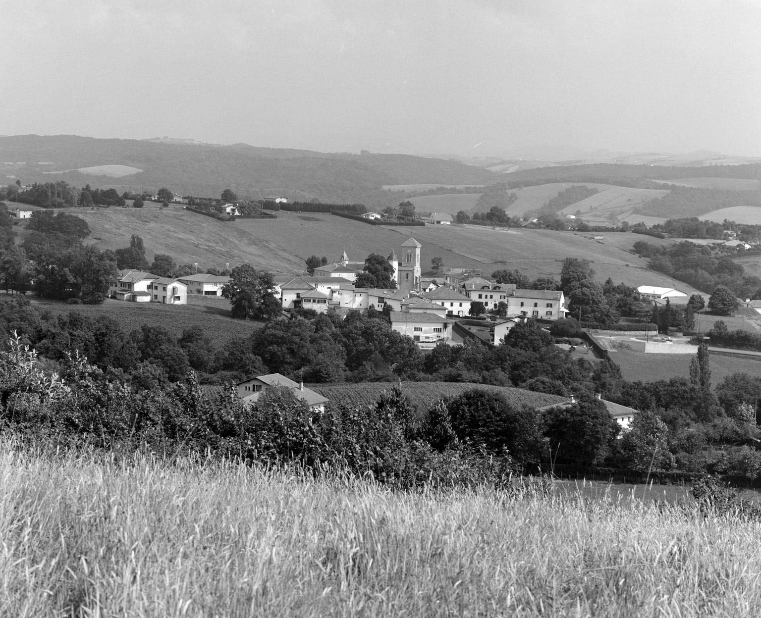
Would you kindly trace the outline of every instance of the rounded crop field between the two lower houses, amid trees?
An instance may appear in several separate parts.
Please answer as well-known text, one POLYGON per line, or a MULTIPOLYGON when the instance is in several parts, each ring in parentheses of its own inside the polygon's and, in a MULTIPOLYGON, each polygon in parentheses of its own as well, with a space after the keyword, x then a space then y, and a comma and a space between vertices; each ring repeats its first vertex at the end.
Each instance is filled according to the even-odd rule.
MULTIPOLYGON (((364 382, 361 384, 310 384, 312 390, 316 390, 324 397, 328 397, 333 403, 346 404, 347 406, 372 405, 380 399, 384 390, 393 387, 389 382, 364 382)), ((424 413, 435 400, 441 397, 457 397, 460 393, 472 388, 493 390, 501 393, 511 403, 516 405, 532 406, 540 408, 550 406, 553 403, 565 401, 565 397, 548 395, 546 393, 534 393, 531 390, 511 387, 488 386, 486 384, 469 384, 460 382, 402 382, 403 392, 411 400, 412 406, 418 413, 424 413)))

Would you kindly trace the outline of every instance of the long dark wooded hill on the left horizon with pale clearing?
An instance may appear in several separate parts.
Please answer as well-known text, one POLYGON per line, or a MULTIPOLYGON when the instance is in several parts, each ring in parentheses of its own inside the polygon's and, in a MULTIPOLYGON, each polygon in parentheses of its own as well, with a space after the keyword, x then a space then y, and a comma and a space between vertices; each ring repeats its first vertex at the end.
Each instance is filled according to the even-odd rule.
POLYGON ((298 199, 378 207, 398 198, 382 191, 384 185, 489 184, 498 176, 457 161, 411 155, 218 146, 165 138, 0 137, 0 182, 17 178, 24 184, 65 180, 119 192, 167 186, 182 195, 201 197, 219 196, 228 187, 253 199, 276 190, 292 192, 298 199))

